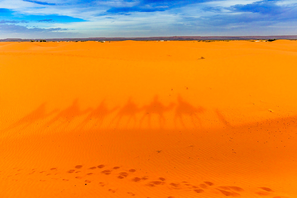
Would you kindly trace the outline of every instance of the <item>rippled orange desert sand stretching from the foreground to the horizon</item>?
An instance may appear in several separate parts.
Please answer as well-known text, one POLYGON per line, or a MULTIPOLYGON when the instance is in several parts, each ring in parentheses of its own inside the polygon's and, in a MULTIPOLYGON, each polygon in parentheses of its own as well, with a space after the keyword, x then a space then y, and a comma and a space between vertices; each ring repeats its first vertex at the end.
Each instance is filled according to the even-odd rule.
POLYGON ((290 40, 1 42, 0 197, 297 197, 296 63, 290 40))

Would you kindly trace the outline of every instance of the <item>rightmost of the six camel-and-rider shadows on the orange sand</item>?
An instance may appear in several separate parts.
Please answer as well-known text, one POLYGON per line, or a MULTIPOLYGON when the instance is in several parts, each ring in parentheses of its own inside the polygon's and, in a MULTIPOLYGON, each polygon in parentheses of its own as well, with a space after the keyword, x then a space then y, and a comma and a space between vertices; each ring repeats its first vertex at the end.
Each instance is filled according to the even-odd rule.
POLYGON ((190 103, 184 101, 184 99, 180 95, 178 95, 177 101, 178 103, 174 115, 175 127, 180 123, 184 128, 187 128, 184 123, 184 119, 187 119, 187 117, 191 117, 191 122, 194 127, 197 127, 196 122, 199 122, 199 125, 201 125, 199 114, 203 113, 205 109, 202 107, 192 106, 190 103))

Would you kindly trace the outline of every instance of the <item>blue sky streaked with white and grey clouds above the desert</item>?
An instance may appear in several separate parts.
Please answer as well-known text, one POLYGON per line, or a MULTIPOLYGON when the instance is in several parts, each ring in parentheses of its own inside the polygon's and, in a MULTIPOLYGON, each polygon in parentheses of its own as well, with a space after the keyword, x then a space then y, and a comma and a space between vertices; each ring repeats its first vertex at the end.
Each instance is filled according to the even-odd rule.
POLYGON ((297 0, 0 0, 0 39, 297 35, 297 0))

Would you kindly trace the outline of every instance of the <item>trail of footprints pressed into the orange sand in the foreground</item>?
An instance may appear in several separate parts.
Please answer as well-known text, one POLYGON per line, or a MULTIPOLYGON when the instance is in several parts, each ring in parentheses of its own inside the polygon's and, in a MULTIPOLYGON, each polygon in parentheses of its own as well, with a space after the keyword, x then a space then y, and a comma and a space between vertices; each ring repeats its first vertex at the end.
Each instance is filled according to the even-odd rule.
MULTIPOLYGON (((46 173, 48 171, 38 172, 37 169, 32 169, 31 173, 29 174, 45 173, 45 174, 37 174, 40 177, 37 179, 37 181, 45 182, 45 183, 46 183, 46 178, 48 178, 48 177, 45 178, 45 176, 59 174, 59 178, 51 178, 51 179, 66 182, 71 180, 71 178, 75 178, 74 181, 82 182, 83 185, 87 183, 92 183, 92 184, 97 183, 99 187, 108 186, 109 179, 110 181, 112 181, 112 183, 117 182, 119 180, 123 180, 127 182, 127 184, 129 182, 141 183, 140 185, 145 188, 162 188, 161 186, 163 186, 163 188, 167 187, 172 191, 192 191, 192 193, 194 194, 196 193, 205 194, 204 196, 207 196, 210 193, 217 193, 217 194, 221 194, 221 196, 226 196, 226 197, 240 197, 240 196, 243 196, 240 193, 245 191, 245 189, 242 189, 241 187, 238 187, 238 186, 216 185, 211 181, 200 181, 194 184, 194 183, 189 183, 187 181, 174 181, 174 180, 170 180, 170 178, 165 178, 165 177, 149 178, 149 176, 147 175, 142 176, 137 174, 137 171, 135 169, 124 168, 120 166, 110 166, 108 167, 109 169, 106 169, 106 170, 104 169, 102 170, 102 168, 106 167, 105 165, 99 165, 99 166, 93 166, 93 167, 88 166, 88 167, 89 168, 83 168, 82 165, 77 165, 75 166, 75 169, 71 169, 71 170, 67 170, 67 169, 63 170, 60 168, 58 169, 56 167, 53 167, 53 168, 48 168, 50 170, 50 173, 46 173), (79 171, 76 171, 77 170, 76 168, 78 168, 79 171), (92 170, 91 173, 89 172, 90 170, 92 170), (69 175, 68 173, 74 174, 74 175, 67 178, 67 175, 69 175), (105 175, 112 175, 112 177, 109 177, 109 176, 105 177, 105 175), (62 178, 64 177, 64 178, 62 179, 61 177, 62 178), (104 178, 107 181, 102 182, 101 179, 104 179, 104 178), (116 178, 116 180, 113 180, 113 178, 116 178)), ((23 172, 22 169, 19 169, 19 170, 16 169, 15 173, 13 175, 9 175, 8 177, 10 178, 11 176, 18 177, 18 175, 21 175, 22 172, 23 172)), ((12 178, 12 179, 15 179, 15 178, 12 178)), ((34 180, 34 179, 31 179, 31 180, 34 180)), ((17 180, 15 179, 14 181, 17 181, 17 180)), ((116 193, 117 189, 111 189, 110 187, 113 188, 113 186, 108 186, 107 187, 107 189, 109 189, 108 191, 110 191, 111 193, 116 193)), ((277 196, 277 194, 275 194, 274 191, 268 187, 257 187, 257 189, 258 190, 256 191, 250 191, 250 193, 254 194, 254 195, 251 194, 251 197, 268 195, 269 197, 273 197, 273 198, 285 198, 283 196, 277 196)), ((247 192, 248 191, 246 191, 245 193, 247 192)), ((131 196, 136 196, 135 193, 133 192, 127 192, 126 196, 128 196, 128 194, 131 196)))

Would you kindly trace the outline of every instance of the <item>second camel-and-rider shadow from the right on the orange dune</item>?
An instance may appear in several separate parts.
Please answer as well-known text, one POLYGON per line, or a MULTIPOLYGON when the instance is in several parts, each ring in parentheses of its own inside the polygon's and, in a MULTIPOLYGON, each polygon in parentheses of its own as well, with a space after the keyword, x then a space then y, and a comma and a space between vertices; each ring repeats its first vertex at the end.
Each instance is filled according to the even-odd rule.
POLYGON ((173 109, 173 107, 175 106, 175 103, 170 103, 168 106, 163 105, 158 98, 158 95, 154 96, 154 100, 146 106, 143 106, 141 108, 141 110, 144 110, 144 114, 140 119, 140 126, 142 126, 142 123, 145 119, 147 119, 147 124, 148 127, 151 128, 151 117, 153 115, 158 116, 159 118, 159 125, 160 128, 163 128, 163 126, 165 125, 165 117, 164 117, 164 113, 167 111, 170 111, 173 109))

